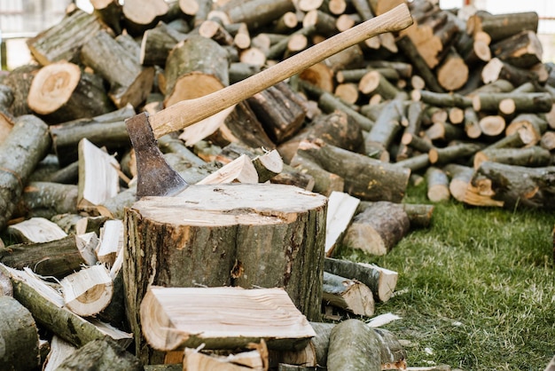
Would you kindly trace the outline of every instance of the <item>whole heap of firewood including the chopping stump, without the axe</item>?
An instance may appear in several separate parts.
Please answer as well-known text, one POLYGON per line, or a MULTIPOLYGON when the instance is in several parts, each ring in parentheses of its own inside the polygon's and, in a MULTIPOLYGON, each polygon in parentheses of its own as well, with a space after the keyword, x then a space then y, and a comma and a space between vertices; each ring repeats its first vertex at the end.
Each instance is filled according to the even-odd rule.
POLYGON ((91 3, 28 40, 33 63, 0 75, 11 369, 407 369, 380 319, 344 320, 372 318, 397 273, 336 259, 336 246, 387 254, 449 198, 555 205, 555 69, 535 12, 412 1, 409 28, 160 136, 192 186, 137 201, 126 119, 404 1, 91 3), (403 203, 420 181, 430 204, 403 203))

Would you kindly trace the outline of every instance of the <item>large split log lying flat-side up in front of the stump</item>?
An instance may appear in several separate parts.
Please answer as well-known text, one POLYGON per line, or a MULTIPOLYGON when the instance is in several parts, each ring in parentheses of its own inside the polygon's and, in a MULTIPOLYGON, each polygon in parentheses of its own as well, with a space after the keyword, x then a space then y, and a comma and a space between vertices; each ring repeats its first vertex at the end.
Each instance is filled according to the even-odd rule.
POLYGON ((299 350, 315 335, 279 288, 152 286, 141 303, 141 323, 148 343, 160 351, 202 343, 206 349, 236 349, 261 340, 270 349, 299 350))

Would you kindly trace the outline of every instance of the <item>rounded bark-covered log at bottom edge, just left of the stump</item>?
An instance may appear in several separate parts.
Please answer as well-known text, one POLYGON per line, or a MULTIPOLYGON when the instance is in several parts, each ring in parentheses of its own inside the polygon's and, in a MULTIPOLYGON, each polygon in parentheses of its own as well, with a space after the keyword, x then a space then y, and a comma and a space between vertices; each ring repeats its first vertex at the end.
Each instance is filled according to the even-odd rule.
POLYGON ((144 367, 133 354, 110 339, 96 339, 74 351, 56 369, 77 371, 88 369, 111 369, 113 371, 140 371, 144 367))

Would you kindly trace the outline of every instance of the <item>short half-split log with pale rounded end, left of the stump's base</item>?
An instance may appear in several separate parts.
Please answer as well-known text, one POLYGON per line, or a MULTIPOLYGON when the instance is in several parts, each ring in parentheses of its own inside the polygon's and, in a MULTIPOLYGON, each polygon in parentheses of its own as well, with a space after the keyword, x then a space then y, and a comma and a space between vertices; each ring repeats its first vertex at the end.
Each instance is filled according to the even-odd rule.
POLYGON ((104 264, 83 268, 60 281, 64 303, 71 312, 82 317, 102 312, 113 295, 113 282, 104 264))

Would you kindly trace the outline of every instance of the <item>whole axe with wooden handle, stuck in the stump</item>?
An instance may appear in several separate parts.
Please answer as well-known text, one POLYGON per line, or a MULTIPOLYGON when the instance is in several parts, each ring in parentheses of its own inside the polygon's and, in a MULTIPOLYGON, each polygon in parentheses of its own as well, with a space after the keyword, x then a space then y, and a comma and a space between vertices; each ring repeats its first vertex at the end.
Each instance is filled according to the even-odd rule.
POLYGON ((400 31, 411 24, 409 8, 407 4, 401 4, 219 91, 197 99, 182 100, 156 114, 141 113, 130 117, 125 124, 137 159, 137 199, 175 195, 187 186, 164 159, 156 138, 234 107, 242 100, 356 43, 386 32, 400 31))

